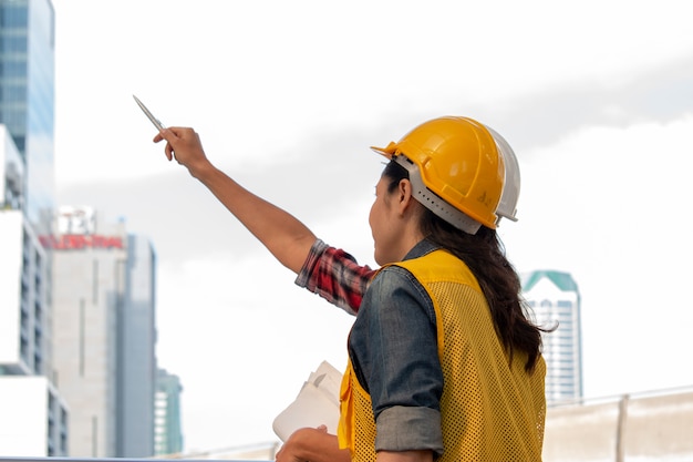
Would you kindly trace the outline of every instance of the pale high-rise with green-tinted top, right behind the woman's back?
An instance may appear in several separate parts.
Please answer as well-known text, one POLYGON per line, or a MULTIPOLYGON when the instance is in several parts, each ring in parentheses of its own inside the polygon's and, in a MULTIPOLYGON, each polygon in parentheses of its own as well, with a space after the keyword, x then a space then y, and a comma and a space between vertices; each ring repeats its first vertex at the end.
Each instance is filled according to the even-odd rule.
POLYGON ((582 398, 580 292, 568 273, 537 270, 523 275, 523 292, 535 322, 556 330, 542 335, 549 403, 582 398))

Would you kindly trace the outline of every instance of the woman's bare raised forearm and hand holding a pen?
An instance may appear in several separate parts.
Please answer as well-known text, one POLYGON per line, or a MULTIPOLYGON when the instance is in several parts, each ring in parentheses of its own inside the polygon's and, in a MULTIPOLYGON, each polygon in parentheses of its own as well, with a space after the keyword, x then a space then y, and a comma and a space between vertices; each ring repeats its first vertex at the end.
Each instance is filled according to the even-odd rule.
POLYGON ((162 130, 154 142, 166 141, 166 157, 185 166, 287 268, 299 273, 316 235, 294 216, 256 196, 209 162, 193 129, 162 130))

